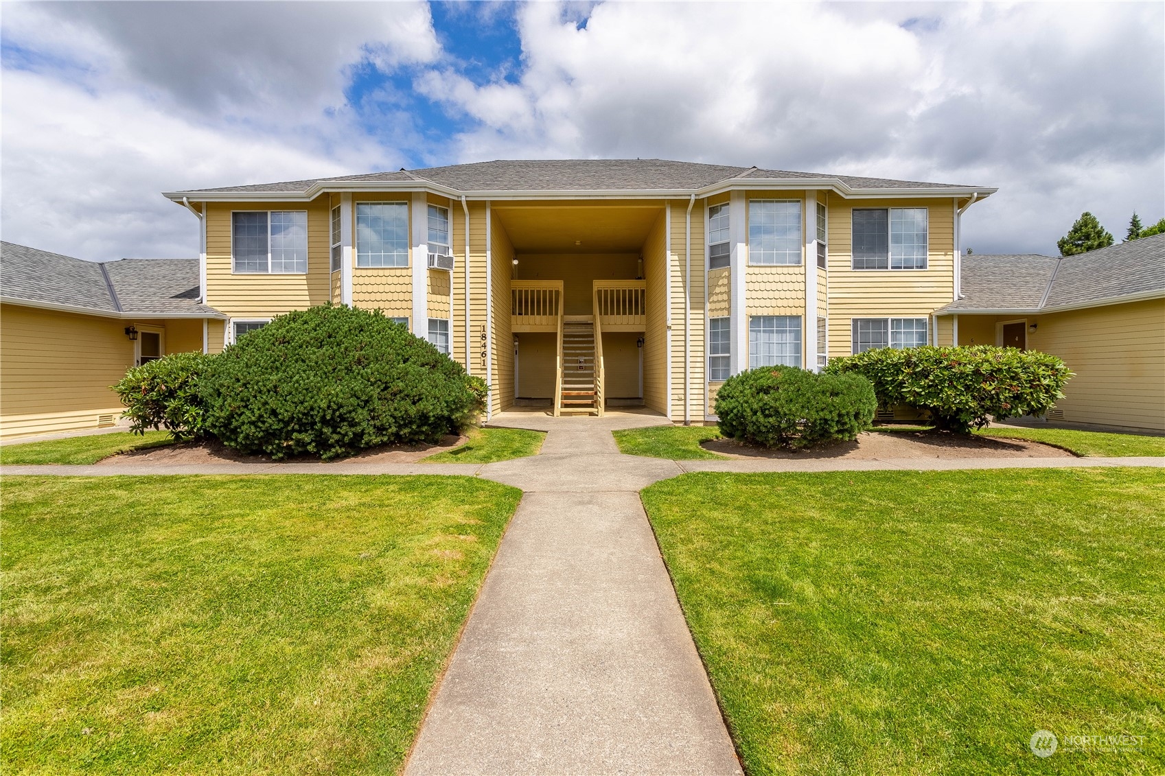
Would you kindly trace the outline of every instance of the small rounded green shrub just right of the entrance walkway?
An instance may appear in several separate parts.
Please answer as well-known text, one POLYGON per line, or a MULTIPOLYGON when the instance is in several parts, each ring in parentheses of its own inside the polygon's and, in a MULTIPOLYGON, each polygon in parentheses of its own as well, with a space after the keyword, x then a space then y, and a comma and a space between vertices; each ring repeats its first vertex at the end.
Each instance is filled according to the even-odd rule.
POLYGON ((760 367, 725 381, 716 394, 720 431, 765 447, 848 442, 870 428, 877 398, 861 375, 760 367))

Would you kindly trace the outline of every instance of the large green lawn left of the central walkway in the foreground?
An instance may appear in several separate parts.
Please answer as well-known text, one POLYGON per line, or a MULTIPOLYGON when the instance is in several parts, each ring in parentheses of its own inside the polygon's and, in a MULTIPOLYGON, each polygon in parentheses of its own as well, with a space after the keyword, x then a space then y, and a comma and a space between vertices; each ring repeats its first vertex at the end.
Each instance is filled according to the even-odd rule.
POLYGON ((394 773, 520 492, 3 481, 6 774, 394 773))

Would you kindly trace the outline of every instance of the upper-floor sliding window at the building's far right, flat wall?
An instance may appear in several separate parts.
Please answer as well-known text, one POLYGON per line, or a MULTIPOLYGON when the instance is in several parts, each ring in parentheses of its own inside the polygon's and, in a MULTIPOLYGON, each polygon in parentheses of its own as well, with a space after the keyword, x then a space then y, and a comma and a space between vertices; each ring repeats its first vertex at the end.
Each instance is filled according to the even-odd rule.
POLYGON ((855 207, 854 269, 926 269, 925 207, 855 207))

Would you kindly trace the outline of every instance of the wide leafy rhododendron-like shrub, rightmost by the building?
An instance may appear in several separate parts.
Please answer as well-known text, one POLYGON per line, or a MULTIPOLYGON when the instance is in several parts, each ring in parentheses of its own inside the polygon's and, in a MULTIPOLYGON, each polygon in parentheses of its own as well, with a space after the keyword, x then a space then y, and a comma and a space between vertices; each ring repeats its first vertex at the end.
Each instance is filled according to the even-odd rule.
POLYGON ((909 404, 939 429, 965 433, 1002 419, 1042 415, 1064 396, 1072 372, 1038 351, 970 345, 883 347, 829 361, 831 374, 860 374, 882 407, 909 404))

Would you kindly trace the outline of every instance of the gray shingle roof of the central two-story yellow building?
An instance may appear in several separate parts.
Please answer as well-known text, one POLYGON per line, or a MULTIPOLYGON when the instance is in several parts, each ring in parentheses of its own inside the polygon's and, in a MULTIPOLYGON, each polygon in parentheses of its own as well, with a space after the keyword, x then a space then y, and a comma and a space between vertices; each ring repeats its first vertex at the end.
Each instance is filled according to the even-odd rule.
POLYGON ((316 183, 379 181, 428 181, 458 191, 675 191, 740 177, 742 179, 840 179, 856 189, 932 188, 965 189, 948 183, 919 183, 890 178, 864 178, 821 172, 760 170, 749 167, 675 162, 661 158, 567 158, 567 160, 497 160, 450 167, 430 167, 411 171, 372 172, 332 178, 285 181, 219 189, 199 189, 203 193, 263 192, 298 193, 316 183))

